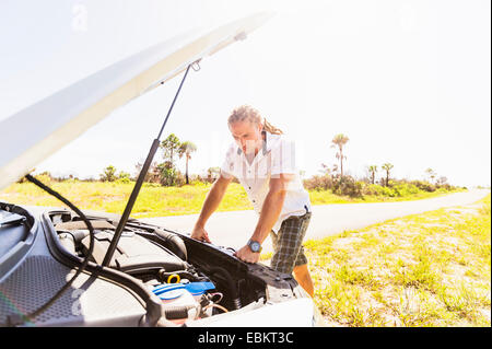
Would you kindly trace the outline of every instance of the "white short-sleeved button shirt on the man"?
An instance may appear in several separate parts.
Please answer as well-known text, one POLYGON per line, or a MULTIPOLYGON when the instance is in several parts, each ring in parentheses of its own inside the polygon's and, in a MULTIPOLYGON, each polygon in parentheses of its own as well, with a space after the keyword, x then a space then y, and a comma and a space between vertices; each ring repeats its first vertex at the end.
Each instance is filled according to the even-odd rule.
POLYGON ((311 211, 311 201, 295 166, 294 142, 282 135, 265 133, 263 148, 258 151, 251 163, 246 160, 243 150, 233 142, 227 149, 221 171, 239 181, 258 214, 261 213, 269 191, 270 178, 279 177, 280 174, 294 175, 294 178, 289 182, 282 211, 272 228, 277 233, 286 218, 303 216, 306 210, 311 211))

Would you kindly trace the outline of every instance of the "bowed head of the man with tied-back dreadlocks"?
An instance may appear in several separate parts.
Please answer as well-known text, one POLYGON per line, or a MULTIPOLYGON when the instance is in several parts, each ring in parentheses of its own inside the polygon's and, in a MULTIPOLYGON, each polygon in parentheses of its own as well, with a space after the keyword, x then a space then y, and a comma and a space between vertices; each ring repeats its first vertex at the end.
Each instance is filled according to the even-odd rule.
POLYGON ((245 154, 256 154, 259 151, 263 141, 261 137, 263 129, 270 133, 282 133, 249 105, 235 108, 227 119, 227 125, 234 140, 245 154))

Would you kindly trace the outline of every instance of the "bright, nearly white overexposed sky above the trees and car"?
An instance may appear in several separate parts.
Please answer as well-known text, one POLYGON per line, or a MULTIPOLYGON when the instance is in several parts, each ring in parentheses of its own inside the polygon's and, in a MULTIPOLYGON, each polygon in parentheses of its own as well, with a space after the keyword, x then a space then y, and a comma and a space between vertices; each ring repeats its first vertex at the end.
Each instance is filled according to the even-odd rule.
MULTIPOLYGON (((354 176, 389 162, 396 178, 422 179, 431 167, 454 185, 490 186, 490 7, 487 0, 7 0, 0 120, 188 28, 276 10, 246 40, 188 75, 164 137, 197 146, 190 173, 222 164, 232 142, 227 116, 249 104, 295 140, 305 177, 337 163, 331 139, 344 133, 344 168, 354 176)), ((133 175, 180 78, 114 110, 36 171, 97 178, 112 164, 133 175)), ((184 171, 183 160, 177 165, 184 171)))

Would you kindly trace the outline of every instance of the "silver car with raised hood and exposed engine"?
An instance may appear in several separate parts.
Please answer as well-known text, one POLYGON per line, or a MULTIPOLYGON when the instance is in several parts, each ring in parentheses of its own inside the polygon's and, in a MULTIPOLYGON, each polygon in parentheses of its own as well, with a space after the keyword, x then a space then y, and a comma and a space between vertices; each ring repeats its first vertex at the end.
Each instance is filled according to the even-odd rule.
MULTIPOLYGON (((115 108, 244 39, 269 16, 179 35, 0 120, 0 188, 115 108)), ((232 248, 165 226, 118 214, 84 216, 92 230, 72 209, 0 202, 0 326, 318 324, 313 300, 291 275, 246 264, 232 248), (104 264, 121 221, 115 254, 104 264), (70 287, 54 298, 68 280, 70 287)))

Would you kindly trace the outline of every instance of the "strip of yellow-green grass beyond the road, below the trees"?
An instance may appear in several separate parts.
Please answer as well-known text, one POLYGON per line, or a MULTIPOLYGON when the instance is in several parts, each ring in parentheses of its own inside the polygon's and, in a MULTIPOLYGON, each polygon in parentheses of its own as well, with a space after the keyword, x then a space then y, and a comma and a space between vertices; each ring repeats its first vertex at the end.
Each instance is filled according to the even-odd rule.
MULTIPOLYGON (((65 181, 50 182, 42 178, 51 188, 67 197, 79 208, 85 210, 121 213, 131 194, 134 183, 101 183, 65 181)), ((195 183, 181 187, 162 187, 145 183, 140 191, 132 210, 133 218, 164 217, 177 214, 199 213, 210 184, 195 183)), ((348 196, 338 196, 330 190, 312 190, 309 198, 313 205, 351 203, 351 202, 380 202, 418 200, 449 194, 452 191, 436 190, 434 193, 419 191, 403 197, 365 196, 363 199, 353 199, 348 196)), ((34 206, 62 206, 32 183, 15 183, 0 191, 0 200, 17 205, 34 206)), ((218 211, 251 210, 247 194, 243 186, 232 183, 222 200, 218 211)))

